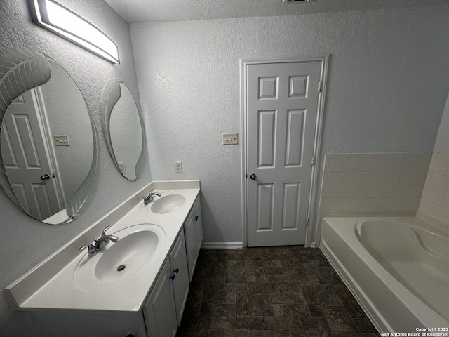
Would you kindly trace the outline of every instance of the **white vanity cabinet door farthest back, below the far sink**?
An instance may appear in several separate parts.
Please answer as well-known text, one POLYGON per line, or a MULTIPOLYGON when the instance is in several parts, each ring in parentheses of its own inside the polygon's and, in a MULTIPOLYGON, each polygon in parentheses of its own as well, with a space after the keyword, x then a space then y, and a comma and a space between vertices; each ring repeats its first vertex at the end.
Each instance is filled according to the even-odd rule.
POLYGON ((189 266, 189 280, 192 281, 196 260, 203 243, 203 222, 201 218, 201 204, 199 196, 196 197, 194 205, 184 223, 187 264, 189 266))

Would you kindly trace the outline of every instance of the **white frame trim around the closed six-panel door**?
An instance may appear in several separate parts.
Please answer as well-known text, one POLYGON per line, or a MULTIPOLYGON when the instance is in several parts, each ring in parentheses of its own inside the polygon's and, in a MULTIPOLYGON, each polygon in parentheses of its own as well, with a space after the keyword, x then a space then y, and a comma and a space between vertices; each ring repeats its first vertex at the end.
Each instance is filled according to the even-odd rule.
MULTIPOLYGON (((250 58, 240 60, 240 103, 241 103, 241 162, 242 162, 242 184, 241 184, 241 206, 242 206, 242 243, 243 246, 248 246, 248 178, 247 174, 247 117, 248 112, 246 109, 247 98, 246 98, 246 67, 247 65, 259 65, 259 64, 269 64, 269 63, 290 63, 290 62, 319 62, 321 64, 320 81, 322 82, 321 94, 318 97, 317 113, 316 113, 316 126, 315 126, 315 136, 314 136, 314 152, 315 157, 314 166, 311 166, 311 183, 309 190, 309 207, 307 209, 307 217, 309 218, 309 225, 306 227, 306 242, 304 246, 315 247, 315 240, 312 237, 316 230, 316 191, 319 164, 320 164, 320 149, 321 149, 321 130, 323 126, 323 113, 324 113, 324 100, 326 97, 326 80, 328 74, 328 63, 329 55, 316 55, 316 56, 302 56, 295 58, 250 58)), ((317 88, 318 90, 318 88, 317 88)))

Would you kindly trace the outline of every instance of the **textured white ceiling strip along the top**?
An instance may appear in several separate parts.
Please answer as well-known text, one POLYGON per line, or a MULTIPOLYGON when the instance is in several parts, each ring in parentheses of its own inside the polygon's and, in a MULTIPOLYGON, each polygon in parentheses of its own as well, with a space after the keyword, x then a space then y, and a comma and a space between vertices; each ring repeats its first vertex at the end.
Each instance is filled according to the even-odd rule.
POLYGON ((161 22, 439 6, 448 0, 105 0, 126 21, 161 22))

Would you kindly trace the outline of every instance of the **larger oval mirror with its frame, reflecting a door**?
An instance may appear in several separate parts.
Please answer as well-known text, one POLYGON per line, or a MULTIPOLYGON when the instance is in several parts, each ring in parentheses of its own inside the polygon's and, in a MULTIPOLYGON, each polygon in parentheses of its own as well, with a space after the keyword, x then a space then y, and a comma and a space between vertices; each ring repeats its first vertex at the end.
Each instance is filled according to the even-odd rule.
POLYGON ((0 185, 25 213, 68 223, 98 185, 98 140, 72 77, 46 55, 0 55, 0 185))

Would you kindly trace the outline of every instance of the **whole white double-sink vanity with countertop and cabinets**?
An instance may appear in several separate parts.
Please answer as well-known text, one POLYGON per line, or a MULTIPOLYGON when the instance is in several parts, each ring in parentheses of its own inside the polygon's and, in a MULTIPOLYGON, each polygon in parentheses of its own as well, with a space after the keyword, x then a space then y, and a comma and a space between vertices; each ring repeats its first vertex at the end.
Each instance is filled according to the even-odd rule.
POLYGON ((203 239, 199 180, 153 182, 6 288, 40 336, 175 336, 203 239), (160 193, 144 205, 149 192, 160 193), (94 256, 85 244, 117 237, 94 256))

